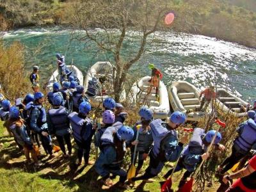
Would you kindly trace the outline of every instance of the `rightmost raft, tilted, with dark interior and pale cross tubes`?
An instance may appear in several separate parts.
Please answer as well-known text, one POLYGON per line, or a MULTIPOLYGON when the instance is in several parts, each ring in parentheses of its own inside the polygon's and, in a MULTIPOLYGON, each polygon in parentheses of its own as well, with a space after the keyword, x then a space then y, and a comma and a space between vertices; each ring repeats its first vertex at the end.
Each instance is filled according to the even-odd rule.
POLYGON ((233 93, 227 92, 227 90, 223 88, 218 88, 216 95, 216 105, 218 105, 222 111, 238 117, 246 116, 246 112, 243 111, 241 106, 243 105, 244 108, 246 108, 248 102, 245 102, 233 93))

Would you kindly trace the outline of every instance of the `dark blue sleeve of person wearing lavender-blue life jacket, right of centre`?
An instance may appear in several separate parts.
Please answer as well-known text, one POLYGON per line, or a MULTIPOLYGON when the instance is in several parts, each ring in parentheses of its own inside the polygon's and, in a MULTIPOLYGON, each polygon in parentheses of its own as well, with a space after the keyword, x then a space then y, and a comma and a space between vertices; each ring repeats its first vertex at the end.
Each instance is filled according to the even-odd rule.
POLYGON ((168 142, 164 145, 164 155, 167 161, 175 162, 180 156, 182 152, 183 145, 178 143, 177 138, 175 136, 170 136, 168 142))

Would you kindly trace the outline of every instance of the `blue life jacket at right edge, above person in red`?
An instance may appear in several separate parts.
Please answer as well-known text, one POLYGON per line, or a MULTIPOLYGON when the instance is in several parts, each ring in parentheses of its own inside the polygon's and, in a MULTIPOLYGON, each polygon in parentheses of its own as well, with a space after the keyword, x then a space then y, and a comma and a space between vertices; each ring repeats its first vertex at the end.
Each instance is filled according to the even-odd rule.
POLYGON ((240 132, 239 137, 235 140, 235 144, 248 152, 256 143, 256 123, 254 120, 249 119, 244 124, 243 130, 240 132))

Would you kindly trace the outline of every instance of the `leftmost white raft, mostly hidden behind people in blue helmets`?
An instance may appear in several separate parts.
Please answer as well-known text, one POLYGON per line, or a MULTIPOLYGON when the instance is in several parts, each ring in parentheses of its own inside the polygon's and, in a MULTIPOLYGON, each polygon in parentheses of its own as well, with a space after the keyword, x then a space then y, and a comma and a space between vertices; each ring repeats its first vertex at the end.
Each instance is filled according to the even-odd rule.
MULTIPOLYGON (((83 84, 83 73, 81 70, 79 70, 75 65, 67 65, 67 68, 72 72, 72 75, 76 76, 77 79, 79 80, 80 84, 83 84)), ((55 70, 52 73, 52 76, 50 77, 48 84, 47 84, 47 90, 52 91, 52 84, 54 82, 58 82, 60 79, 59 72, 58 70, 55 70)))

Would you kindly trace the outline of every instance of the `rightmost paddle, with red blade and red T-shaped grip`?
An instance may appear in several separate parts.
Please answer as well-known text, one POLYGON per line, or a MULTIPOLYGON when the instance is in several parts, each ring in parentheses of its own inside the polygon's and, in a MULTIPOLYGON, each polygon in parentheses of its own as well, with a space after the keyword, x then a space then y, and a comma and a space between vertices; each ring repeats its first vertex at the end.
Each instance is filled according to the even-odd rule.
MULTIPOLYGON (((216 124, 218 124, 218 125, 220 125, 220 126, 219 126, 218 129, 216 130, 216 133, 215 133, 215 135, 214 135, 214 137, 213 137, 213 139, 212 139, 212 141, 211 141, 211 144, 210 144, 209 147, 207 148, 207 153, 211 150, 211 147, 212 147, 213 142, 214 142, 214 140, 215 140, 215 138, 216 138, 216 136, 217 136, 217 134, 218 134, 218 131, 220 130, 220 127, 225 128, 225 126, 226 126, 226 124, 225 124, 224 122, 221 122, 220 120, 215 120, 215 122, 216 122, 216 124)), ((195 174, 193 174, 193 176, 191 177, 191 179, 188 180, 188 181, 184 184, 184 186, 182 186, 182 188, 179 189, 180 192, 189 192, 189 191, 192 191, 193 182, 194 182, 193 177, 196 177, 196 175, 197 175, 197 173, 199 172, 201 166, 204 164, 204 161, 205 161, 205 160, 203 159, 202 162, 200 163, 200 165, 198 166, 198 168, 196 169, 195 174)))

